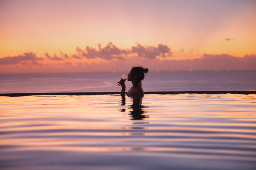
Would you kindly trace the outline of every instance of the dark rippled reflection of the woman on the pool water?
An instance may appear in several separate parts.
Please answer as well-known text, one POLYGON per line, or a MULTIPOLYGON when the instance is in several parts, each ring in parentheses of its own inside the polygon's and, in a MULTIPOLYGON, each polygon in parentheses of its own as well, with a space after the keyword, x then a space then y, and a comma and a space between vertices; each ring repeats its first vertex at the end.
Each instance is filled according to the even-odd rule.
MULTIPOLYGON (((128 107, 128 109, 132 109, 129 111, 130 113, 128 115, 131 115, 130 120, 143 120, 145 118, 148 118, 149 115, 144 115, 143 108, 145 106, 142 105, 142 98, 133 98, 133 104, 131 107, 128 107)), ((125 96, 122 96, 122 103, 120 105, 125 105, 125 96)), ((125 109, 120 109, 120 112, 125 112, 125 109)))

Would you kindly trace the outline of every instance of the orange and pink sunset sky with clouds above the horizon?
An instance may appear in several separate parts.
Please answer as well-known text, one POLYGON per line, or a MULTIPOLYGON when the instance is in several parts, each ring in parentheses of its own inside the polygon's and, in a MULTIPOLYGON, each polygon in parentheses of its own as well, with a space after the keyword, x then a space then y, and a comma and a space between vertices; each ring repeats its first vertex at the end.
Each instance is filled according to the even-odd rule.
POLYGON ((1 0, 0 72, 256 69, 255 0, 1 0))

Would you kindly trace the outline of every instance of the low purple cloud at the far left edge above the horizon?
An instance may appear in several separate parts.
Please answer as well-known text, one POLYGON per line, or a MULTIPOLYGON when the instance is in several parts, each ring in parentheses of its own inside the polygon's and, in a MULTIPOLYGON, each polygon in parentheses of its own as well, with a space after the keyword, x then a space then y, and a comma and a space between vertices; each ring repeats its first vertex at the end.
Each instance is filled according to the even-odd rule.
POLYGON ((38 62, 36 61, 40 61, 40 60, 44 60, 44 58, 37 57, 36 53, 33 53, 33 52, 25 52, 22 55, 0 58, 0 65, 18 64, 23 61, 27 61, 26 63, 30 63, 30 64, 31 63, 38 64, 38 62))

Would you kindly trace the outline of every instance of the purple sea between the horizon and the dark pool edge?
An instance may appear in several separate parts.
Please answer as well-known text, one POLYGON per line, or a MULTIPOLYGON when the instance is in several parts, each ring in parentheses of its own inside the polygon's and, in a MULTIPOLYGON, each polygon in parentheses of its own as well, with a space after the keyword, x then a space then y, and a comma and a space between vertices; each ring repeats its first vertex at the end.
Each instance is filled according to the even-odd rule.
MULTIPOLYGON (((0 93, 117 92, 123 74, 128 72, 2 73, 0 93)), ((144 91, 256 90, 256 70, 149 71, 142 85, 144 91)))

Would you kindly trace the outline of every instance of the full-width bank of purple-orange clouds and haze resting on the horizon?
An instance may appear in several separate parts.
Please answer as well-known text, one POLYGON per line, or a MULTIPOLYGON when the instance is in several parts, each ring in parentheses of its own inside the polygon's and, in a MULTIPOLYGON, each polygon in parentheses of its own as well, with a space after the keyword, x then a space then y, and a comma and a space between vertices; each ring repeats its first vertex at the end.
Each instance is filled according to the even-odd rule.
POLYGON ((44 57, 27 52, 13 57, 0 58, 2 72, 69 72, 69 71, 124 71, 132 65, 145 65, 151 70, 213 70, 213 69, 256 69, 256 55, 236 57, 228 54, 204 54, 194 50, 172 51, 167 45, 147 46, 136 44, 122 49, 108 43, 105 47, 77 47, 76 53, 67 55, 60 52, 44 57), (183 59, 188 56, 188 59, 183 59), (190 57, 191 55, 191 57, 190 57), (193 56, 192 56, 193 55, 193 56), (43 61, 44 60, 44 61, 43 61))

